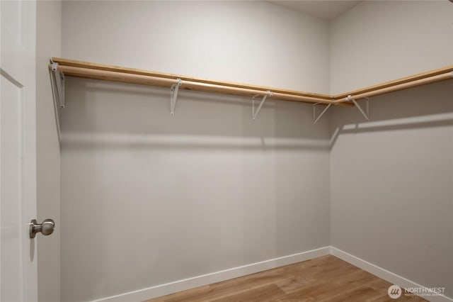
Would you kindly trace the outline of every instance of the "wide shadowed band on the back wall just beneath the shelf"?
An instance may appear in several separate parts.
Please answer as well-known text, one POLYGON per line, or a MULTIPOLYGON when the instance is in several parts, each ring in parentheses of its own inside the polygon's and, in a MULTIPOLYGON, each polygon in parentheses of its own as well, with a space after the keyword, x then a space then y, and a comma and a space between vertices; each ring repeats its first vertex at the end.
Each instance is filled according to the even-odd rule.
POLYGON ((62 145, 328 150, 328 123, 313 125, 310 104, 268 99, 252 121, 246 97, 180 91, 173 116, 169 99, 165 88, 69 78, 62 145))

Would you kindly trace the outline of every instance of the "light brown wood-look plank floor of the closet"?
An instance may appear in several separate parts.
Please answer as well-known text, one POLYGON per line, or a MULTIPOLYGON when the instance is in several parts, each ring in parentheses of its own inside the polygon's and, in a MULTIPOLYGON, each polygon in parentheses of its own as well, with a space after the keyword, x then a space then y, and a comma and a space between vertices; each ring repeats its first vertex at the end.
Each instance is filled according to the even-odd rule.
POLYGON ((418 296, 392 299, 392 284, 328 255, 265 272, 201 286, 147 302, 175 301, 426 301, 418 296))

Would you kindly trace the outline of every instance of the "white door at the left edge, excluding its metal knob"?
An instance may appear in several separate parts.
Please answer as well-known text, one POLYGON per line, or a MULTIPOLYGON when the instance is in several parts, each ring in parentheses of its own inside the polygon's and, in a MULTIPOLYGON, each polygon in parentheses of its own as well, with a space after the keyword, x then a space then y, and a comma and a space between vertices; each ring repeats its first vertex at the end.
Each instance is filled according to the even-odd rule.
POLYGON ((38 300, 35 1, 0 0, 0 301, 38 300))

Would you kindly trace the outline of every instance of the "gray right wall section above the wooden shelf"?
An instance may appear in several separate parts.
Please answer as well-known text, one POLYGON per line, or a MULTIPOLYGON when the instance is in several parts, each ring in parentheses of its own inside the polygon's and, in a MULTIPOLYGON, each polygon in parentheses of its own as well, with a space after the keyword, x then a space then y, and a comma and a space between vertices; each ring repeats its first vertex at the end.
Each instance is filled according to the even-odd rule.
POLYGON ((362 1, 330 23, 330 92, 453 65, 449 1, 362 1))

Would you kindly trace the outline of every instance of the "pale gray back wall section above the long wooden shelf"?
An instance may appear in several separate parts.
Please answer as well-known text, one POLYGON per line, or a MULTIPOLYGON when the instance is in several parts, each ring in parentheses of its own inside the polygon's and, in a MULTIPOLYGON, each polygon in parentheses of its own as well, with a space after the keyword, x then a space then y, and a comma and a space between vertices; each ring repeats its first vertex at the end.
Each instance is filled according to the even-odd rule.
POLYGON ((64 1, 63 55, 328 93, 328 23, 265 1, 64 1))

